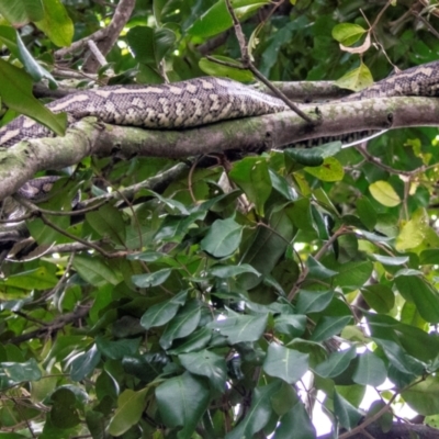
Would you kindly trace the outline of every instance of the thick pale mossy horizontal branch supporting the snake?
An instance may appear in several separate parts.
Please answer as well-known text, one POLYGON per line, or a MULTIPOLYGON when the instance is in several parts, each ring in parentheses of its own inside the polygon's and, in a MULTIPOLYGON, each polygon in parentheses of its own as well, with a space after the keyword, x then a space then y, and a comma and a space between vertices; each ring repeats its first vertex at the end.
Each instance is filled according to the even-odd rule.
POLYGON ((319 123, 309 125, 293 112, 283 112, 184 131, 153 131, 86 119, 64 138, 25 140, 0 150, 0 200, 16 192, 35 172, 71 166, 90 155, 183 158, 227 150, 260 153, 352 131, 439 124, 439 100, 428 98, 372 99, 304 109, 319 123))

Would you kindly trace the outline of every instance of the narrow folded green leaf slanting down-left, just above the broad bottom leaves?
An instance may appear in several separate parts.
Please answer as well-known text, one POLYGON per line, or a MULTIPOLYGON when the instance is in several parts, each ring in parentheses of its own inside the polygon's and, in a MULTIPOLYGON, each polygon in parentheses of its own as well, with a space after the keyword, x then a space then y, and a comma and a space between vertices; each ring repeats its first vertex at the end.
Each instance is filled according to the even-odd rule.
POLYGON ((177 338, 182 338, 192 334, 201 318, 201 304, 196 300, 189 301, 170 320, 165 328, 165 333, 160 337, 160 346, 164 349, 169 349, 172 341, 177 338))

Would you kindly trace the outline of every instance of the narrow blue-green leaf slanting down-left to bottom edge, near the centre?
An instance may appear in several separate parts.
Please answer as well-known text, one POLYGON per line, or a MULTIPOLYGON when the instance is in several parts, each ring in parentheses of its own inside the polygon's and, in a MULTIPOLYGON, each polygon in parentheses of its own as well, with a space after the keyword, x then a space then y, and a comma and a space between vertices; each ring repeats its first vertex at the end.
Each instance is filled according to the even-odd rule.
POLYGON ((256 387, 251 397, 251 406, 247 416, 225 436, 225 439, 254 438, 269 421, 272 414, 271 397, 279 391, 280 382, 256 387))

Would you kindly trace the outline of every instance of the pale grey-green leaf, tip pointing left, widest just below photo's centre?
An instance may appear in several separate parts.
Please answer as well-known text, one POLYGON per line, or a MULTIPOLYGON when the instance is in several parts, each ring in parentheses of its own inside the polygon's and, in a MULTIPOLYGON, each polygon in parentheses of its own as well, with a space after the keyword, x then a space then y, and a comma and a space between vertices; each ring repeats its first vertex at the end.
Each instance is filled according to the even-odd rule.
POLYGON ((244 341, 257 341, 262 336, 267 326, 268 315, 234 315, 230 314, 222 320, 209 324, 209 327, 218 329, 219 334, 227 337, 230 345, 244 341))

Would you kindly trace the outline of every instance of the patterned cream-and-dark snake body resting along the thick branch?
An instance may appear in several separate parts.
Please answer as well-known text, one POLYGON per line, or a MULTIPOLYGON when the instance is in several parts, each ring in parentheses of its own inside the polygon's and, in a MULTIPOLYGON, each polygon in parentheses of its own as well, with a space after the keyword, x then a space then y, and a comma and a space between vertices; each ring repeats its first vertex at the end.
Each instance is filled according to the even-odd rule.
MULTIPOLYGON (((391 76, 342 101, 396 95, 439 95, 439 61, 391 76)), ((301 104, 299 105, 301 106, 301 104)), ((78 91, 47 105, 54 113, 67 112, 69 124, 86 116, 115 125, 155 130, 182 130, 218 121, 290 111, 280 99, 229 79, 198 78, 162 86, 114 86, 78 91)), ((19 116, 0 128, 0 147, 20 140, 48 137, 53 133, 19 116)), ((53 178, 43 178, 43 182, 53 178)), ((31 185, 42 190, 32 180, 31 185)), ((27 191, 21 191, 32 196, 27 191)), ((33 194, 35 195, 35 193, 33 194)))

